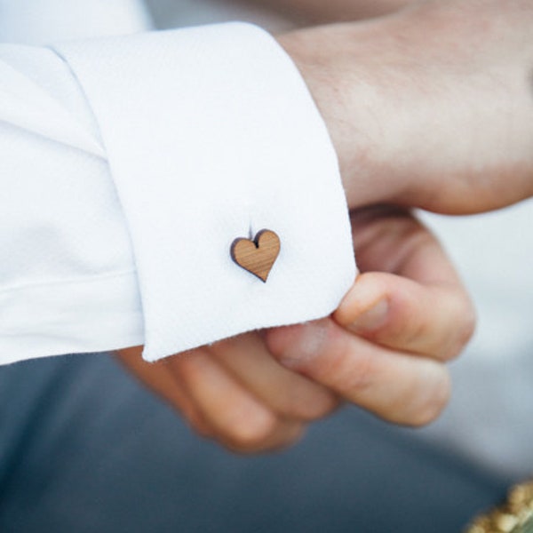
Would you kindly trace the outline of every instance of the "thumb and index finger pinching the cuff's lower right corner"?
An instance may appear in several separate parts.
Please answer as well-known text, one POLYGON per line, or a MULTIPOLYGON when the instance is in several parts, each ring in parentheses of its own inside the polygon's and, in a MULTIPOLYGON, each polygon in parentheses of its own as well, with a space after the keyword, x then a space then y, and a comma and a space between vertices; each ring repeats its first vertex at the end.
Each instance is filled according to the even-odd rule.
POLYGON ((354 212, 362 273, 338 310, 321 321, 267 332, 290 370, 381 418, 419 426, 449 398, 445 362, 473 332, 473 307, 439 243, 392 207, 354 212))

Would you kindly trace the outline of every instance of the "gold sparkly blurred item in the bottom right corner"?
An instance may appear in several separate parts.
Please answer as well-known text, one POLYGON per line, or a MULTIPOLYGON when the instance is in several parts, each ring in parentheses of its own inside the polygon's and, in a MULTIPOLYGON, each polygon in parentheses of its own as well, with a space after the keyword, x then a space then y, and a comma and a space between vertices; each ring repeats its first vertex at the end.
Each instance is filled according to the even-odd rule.
POLYGON ((465 533, 533 533, 533 481, 513 487, 505 504, 476 518, 465 533))

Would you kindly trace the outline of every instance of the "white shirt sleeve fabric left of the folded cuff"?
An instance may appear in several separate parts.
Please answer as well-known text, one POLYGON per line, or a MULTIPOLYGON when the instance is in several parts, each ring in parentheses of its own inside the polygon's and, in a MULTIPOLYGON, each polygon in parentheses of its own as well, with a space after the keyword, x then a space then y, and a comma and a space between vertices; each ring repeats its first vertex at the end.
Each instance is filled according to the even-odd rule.
POLYGON ((127 227, 68 66, 0 45, 0 117, 2 362, 142 343, 127 227))

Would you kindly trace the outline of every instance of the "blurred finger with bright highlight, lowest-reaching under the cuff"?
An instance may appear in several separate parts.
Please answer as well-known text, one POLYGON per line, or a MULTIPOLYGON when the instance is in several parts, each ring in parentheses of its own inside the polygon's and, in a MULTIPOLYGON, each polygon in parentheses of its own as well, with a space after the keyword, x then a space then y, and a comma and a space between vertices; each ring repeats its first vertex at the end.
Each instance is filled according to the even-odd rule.
POLYGON ((303 425, 278 417, 214 360, 207 348, 171 360, 215 437, 229 449, 253 453, 295 442, 303 425))

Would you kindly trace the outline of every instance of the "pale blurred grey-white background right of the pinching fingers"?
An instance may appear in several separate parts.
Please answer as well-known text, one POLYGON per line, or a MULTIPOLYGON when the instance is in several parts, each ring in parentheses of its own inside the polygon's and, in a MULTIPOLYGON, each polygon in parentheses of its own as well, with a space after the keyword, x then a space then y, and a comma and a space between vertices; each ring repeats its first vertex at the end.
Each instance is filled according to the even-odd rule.
POLYGON ((533 472, 533 201, 466 219, 425 219, 459 267, 479 324, 452 365, 448 410, 422 434, 524 477, 533 472))

